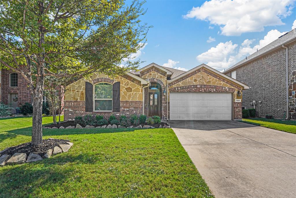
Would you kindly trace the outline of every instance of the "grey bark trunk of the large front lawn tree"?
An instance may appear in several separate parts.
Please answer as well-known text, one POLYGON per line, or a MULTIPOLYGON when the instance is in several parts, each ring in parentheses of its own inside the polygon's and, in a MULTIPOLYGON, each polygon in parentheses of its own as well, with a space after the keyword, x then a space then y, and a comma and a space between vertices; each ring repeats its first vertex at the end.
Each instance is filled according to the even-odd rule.
MULTIPOLYGON (((39 83, 36 83, 36 88, 33 91, 33 125, 32 125, 32 143, 42 144, 42 95, 43 89, 37 87, 39 83)), ((40 84, 39 84, 40 85, 40 84)))

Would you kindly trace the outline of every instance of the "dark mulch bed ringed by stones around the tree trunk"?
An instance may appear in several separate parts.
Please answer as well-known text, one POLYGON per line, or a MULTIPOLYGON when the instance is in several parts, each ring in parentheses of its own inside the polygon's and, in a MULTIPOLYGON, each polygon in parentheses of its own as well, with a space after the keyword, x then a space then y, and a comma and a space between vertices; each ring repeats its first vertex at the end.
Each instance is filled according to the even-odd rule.
POLYGON ((25 153, 29 156, 30 153, 36 153, 43 156, 48 149, 54 149, 59 144, 68 144, 61 139, 44 139, 43 144, 31 145, 31 142, 20 144, 14 147, 9 147, 1 152, 2 154, 13 155, 15 153, 25 153))

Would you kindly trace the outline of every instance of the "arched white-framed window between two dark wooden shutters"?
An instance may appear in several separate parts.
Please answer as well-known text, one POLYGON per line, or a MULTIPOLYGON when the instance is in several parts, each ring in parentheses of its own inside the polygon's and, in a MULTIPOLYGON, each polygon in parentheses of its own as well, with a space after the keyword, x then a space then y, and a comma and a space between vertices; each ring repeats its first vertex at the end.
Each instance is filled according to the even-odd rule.
POLYGON ((112 84, 98 83, 94 86, 94 110, 112 111, 112 84))

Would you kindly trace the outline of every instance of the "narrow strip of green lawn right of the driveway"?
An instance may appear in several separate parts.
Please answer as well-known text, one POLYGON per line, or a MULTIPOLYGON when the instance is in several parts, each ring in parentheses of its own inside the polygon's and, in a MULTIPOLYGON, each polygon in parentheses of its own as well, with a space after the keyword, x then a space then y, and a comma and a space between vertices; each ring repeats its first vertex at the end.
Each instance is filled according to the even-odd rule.
POLYGON ((240 122, 296 134, 296 122, 292 120, 282 121, 282 120, 266 119, 266 118, 251 118, 251 119, 242 119, 242 121, 240 122))

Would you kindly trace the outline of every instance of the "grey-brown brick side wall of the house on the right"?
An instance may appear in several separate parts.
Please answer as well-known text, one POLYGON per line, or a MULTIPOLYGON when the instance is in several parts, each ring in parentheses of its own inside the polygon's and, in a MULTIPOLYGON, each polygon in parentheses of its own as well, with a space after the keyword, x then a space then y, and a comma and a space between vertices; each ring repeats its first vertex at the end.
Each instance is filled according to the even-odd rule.
MULTIPOLYGON (((289 54, 289 118, 296 120, 296 44, 290 44, 287 47, 289 54)), ((226 75, 231 76, 231 71, 226 75)), ((254 108, 250 103, 255 100, 256 116, 259 116, 258 101, 262 101, 261 117, 265 117, 265 115, 273 115, 279 119, 286 117, 286 49, 279 49, 242 65, 236 69, 236 79, 250 86, 250 89, 244 90, 243 107, 254 108)))

